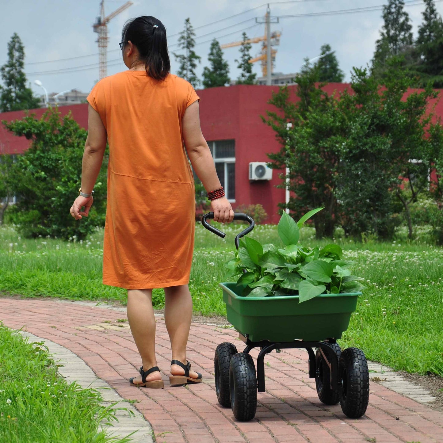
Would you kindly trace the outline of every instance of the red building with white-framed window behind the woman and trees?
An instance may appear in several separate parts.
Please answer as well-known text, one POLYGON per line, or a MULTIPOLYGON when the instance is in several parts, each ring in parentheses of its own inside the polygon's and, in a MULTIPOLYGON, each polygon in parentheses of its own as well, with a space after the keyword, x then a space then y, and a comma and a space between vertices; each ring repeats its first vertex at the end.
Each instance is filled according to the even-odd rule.
MULTIPOLYGON (((325 90, 333 93, 349 87, 349 84, 330 83, 325 90)), ((236 85, 198 91, 202 132, 213 153, 227 197, 234 210, 238 205, 262 204, 268 214, 268 223, 278 222, 277 205, 285 201, 285 190, 276 188, 281 183, 278 175, 283 171, 273 170, 271 180, 250 180, 249 163, 266 163, 266 154, 278 152, 281 148, 272 128, 260 118, 260 115, 266 115, 267 109, 275 110, 268 104, 273 90, 278 91, 278 86, 236 85)), ((87 128, 87 104, 63 106, 59 110, 62 115, 72 111, 78 124, 87 128)), ((33 112, 40 117, 45 109, 33 112)), ((435 104, 435 113, 443 116, 443 103, 435 104)), ((0 120, 11 121, 23 115, 23 111, 0 113, 0 120)), ((29 144, 26 138, 13 136, 0 125, 0 152, 21 153, 29 144)))

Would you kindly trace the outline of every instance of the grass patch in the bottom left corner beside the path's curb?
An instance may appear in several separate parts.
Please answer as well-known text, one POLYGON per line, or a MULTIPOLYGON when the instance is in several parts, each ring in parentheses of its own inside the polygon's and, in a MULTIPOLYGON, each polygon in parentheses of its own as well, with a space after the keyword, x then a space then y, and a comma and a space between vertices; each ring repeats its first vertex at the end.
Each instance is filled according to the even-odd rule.
MULTIPOLYGON (((29 343, 0 323, 0 435, 10 443, 111 443, 100 422, 117 420, 94 389, 68 384, 43 343, 29 343)), ((124 408, 119 408, 124 409, 124 408)))

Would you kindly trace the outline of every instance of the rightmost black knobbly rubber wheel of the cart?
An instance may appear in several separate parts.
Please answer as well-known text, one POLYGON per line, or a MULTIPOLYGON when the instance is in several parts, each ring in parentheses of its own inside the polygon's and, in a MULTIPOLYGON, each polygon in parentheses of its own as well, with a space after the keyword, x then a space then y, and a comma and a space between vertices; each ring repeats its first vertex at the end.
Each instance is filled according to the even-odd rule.
POLYGON ((368 362, 362 350, 347 348, 338 361, 342 411, 349 418, 360 418, 369 403, 368 362))

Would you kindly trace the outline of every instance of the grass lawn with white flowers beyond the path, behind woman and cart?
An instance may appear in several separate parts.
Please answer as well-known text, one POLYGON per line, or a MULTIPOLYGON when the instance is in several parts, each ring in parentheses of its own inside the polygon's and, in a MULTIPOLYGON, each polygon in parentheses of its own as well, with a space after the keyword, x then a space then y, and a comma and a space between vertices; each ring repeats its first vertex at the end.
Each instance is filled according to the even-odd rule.
MULTIPOLYGON (((224 263, 233 256, 239 225, 223 225, 221 239, 196 227, 190 291, 194 311, 225 315, 218 283, 224 263)), ((280 244, 276 227, 260 225, 250 234, 261 242, 280 244)), ((24 296, 117 300, 126 303, 126 291, 101 284, 101 230, 88 241, 75 239, 20 239, 11 227, 0 229, 0 291, 24 296), (3 253, 2 253, 3 252, 3 253)), ((358 310, 340 345, 358 346, 373 361, 411 373, 443 376, 443 249, 420 243, 365 244, 334 239, 345 258, 356 261, 354 274, 366 280, 358 310)), ((304 245, 324 245, 313 229, 302 229, 304 245)), ((162 290, 153 293, 155 307, 163 307, 162 290)))

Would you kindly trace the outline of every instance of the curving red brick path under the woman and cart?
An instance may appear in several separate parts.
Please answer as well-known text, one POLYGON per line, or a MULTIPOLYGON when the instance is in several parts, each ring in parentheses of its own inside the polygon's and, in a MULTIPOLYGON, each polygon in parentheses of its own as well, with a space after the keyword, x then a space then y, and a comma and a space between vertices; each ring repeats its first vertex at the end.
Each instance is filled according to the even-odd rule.
MULTIPOLYGON (((371 383, 369 407, 359 420, 348 419, 340 405, 326 407, 308 378, 307 354, 282 350, 268 354, 266 392, 258 393, 256 418, 237 422, 230 409, 217 402, 214 350, 225 341, 243 350, 235 331, 193 323, 188 359, 205 382, 170 387, 171 353, 166 327, 157 321, 156 349, 165 389, 137 389, 128 378, 136 375, 140 358, 124 312, 47 299, 0 299, 5 326, 46 338, 81 357, 117 392, 132 400, 152 424, 159 442, 443 442, 443 414, 376 383, 371 383)), ((258 351, 251 355, 256 358, 258 351)))

